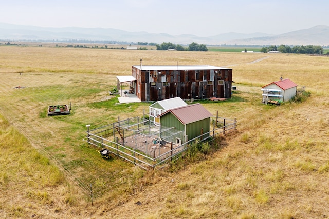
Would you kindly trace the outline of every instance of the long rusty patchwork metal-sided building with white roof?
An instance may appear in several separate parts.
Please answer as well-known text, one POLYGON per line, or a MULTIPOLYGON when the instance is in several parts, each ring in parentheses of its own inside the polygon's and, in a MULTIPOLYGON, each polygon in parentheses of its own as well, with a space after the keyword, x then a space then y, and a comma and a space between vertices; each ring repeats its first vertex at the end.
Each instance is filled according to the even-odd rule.
POLYGON ((134 93, 141 101, 230 98, 232 69, 210 65, 132 66, 134 93))

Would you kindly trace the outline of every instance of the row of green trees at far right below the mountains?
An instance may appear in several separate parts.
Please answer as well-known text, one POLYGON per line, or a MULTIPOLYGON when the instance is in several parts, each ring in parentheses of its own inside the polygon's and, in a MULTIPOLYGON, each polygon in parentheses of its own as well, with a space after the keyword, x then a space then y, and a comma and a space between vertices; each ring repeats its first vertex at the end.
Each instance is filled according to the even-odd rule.
POLYGON ((323 48, 321 46, 307 45, 307 46, 294 46, 290 47, 281 44, 277 46, 263 47, 260 52, 279 51, 282 53, 296 53, 296 54, 323 54, 323 48))

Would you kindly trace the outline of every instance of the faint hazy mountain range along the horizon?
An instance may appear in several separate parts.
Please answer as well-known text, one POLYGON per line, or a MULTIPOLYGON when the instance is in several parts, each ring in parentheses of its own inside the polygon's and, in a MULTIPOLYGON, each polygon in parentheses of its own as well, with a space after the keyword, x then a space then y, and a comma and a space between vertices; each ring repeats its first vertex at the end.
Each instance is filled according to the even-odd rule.
POLYGON ((318 25, 278 35, 266 33, 223 33, 208 37, 191 34, 170 35, 166 33, 129 32, 112 28, 48 28, 0 23, 2 41, 108 41, 149 42, 206 45, 329 45, 329 26, 318 25))

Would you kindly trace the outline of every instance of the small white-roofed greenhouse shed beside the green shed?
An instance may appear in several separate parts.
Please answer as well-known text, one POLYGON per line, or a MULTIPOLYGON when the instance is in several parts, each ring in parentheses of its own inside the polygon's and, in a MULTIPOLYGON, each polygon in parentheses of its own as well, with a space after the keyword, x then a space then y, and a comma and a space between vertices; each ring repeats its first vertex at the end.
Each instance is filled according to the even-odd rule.
POLYGON ((158 117, 160 114, 182 106, 187 106, 187 103, 185 103, 180 97, 163 99, 162 101, 155 102, 150 106, 150 121, 158 124, 160 123, 158 117))

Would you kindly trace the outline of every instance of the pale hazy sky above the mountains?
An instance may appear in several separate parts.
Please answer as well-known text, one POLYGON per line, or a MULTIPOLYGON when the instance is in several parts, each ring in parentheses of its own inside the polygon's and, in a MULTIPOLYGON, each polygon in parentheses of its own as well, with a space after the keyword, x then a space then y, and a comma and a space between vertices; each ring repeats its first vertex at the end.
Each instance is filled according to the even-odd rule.
POLYGON ((280 34, 329 25, 328 0, 7 0, 0 23, 171 35, 280 34))

